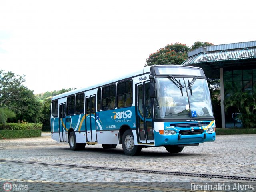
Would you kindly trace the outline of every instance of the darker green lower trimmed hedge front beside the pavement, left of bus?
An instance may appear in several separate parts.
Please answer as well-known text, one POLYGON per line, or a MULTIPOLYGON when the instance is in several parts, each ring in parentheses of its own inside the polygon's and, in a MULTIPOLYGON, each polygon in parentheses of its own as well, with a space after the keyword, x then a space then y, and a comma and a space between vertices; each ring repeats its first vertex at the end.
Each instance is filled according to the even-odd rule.
POLYGON ((40 137, 40 129, 0 130, 0 139, 40 137))

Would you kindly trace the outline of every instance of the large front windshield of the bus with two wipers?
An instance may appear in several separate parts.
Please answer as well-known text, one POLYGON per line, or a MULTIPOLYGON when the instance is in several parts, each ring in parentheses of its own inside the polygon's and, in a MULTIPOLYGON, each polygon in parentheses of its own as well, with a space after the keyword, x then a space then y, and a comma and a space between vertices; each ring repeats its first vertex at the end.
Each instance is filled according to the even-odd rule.
POLYGON ((156 119, 213 117, 206 79, 156 78, 156 119))

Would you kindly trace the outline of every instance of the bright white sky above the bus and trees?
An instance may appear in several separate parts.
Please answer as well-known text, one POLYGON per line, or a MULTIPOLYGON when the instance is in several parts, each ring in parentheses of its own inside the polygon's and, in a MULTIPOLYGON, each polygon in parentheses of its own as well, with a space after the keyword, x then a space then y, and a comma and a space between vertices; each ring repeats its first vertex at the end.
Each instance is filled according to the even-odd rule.
POLYGON ((143 70, 167 44, 256 40, 255 0, 1 0, 0 70, 35 94, 143 70))

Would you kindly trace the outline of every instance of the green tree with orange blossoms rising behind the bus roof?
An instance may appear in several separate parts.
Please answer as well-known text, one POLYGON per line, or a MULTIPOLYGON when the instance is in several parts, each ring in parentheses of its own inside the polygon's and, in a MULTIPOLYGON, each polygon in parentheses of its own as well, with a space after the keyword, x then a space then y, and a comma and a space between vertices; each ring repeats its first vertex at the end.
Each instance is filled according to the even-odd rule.
POLYGON ((185 44, 168 44, 157 50, 146 59, 147 66, 161 64, 182 64, 188 58, 189 48, 185 44))

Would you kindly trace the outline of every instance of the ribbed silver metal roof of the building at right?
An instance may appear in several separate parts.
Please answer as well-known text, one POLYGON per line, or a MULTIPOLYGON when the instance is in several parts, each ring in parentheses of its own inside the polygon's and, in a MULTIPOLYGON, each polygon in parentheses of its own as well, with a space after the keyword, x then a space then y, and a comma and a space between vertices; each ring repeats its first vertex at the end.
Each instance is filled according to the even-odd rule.
POLYGON ((182 64, 204 69, 209 78, 219 78, 219 68, 256 64, 256 41, 204 46, 188 52, 182 64))

